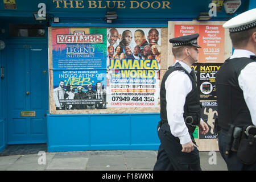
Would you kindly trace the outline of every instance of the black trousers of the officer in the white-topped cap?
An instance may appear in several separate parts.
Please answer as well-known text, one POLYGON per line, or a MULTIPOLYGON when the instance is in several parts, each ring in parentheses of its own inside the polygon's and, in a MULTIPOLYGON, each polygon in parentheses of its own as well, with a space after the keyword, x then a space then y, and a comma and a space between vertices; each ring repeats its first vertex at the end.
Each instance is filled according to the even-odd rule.
POLYGON ((226 151, 226 140, 227 137, 225 134, 220 134, 218 135, 218 148, 220 150, 220 154, 222 158, 226 162, 226 166, 228 167, 229 171, 255 171, 256 170, 256 162, 254 164, 246 165, 242 164, 238 159, 237 159, 237 152, 231 152, 229 153, 229 156, 225 154, 226 151))

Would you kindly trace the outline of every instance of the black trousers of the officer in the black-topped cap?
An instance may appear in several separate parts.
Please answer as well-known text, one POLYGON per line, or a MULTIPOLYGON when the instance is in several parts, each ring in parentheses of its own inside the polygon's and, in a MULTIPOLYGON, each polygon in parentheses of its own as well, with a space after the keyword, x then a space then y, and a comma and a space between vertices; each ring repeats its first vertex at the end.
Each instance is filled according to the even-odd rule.
POLYGON ((171 134, 170 127, 163 124, 158 131, 160 146, 154 171, 201 171, 199 151, 181 152, 182 146, 171 134))

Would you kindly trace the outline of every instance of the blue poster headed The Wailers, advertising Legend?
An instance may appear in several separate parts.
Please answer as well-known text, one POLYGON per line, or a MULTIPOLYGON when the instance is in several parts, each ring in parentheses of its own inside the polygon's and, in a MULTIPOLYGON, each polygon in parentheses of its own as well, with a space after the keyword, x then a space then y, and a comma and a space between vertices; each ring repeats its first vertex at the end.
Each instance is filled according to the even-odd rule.
POLYGON ((56 110, 106 109, 106 28, 52 30, 56 110))

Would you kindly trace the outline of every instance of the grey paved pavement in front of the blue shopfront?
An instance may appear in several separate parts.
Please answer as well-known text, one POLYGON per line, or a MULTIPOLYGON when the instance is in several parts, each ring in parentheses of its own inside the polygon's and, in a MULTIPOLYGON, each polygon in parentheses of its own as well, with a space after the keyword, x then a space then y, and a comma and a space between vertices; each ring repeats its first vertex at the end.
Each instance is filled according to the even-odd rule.
MULTIPOLYGON (((157 152, 41 151, 36 154, 2 155, 0 171, 152 171, 157 152)), ((199 153, 203 171, 227 171, 220 152, 199 153)))

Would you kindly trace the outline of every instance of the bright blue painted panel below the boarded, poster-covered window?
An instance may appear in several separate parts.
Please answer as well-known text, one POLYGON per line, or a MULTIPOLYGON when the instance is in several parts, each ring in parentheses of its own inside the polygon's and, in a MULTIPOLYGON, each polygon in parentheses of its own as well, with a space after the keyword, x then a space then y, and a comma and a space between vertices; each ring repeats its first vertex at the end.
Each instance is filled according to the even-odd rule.
POLYGON ((159 113, 48 114, 48 151, 158 150, 159 121, 159 113))

